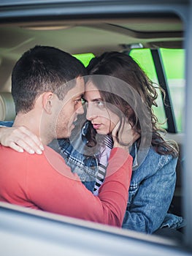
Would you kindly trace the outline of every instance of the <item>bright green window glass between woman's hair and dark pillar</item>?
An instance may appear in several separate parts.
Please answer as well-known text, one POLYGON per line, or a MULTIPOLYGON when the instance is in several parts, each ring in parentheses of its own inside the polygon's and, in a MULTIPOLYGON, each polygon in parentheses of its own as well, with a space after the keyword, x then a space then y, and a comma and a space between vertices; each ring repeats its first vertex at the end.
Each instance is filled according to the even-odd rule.
MULTIPOLYGON (((137 61, 139 66, 144 70, 145 74, 153 81, 153 83, 158 84, 158 78, 155 72, 155 67, 153 64, 153 58, 150 53, 150 49, 133 49, 131 50, 130 56, 137 61)), ((156 100, 158 107, 153 107, 155 116, 158 117, 158 122, 161 127, 166 129, 166 115, 164 111, 164 103, 161 97, 161 91, 157 89, 158 99, 156 100)))

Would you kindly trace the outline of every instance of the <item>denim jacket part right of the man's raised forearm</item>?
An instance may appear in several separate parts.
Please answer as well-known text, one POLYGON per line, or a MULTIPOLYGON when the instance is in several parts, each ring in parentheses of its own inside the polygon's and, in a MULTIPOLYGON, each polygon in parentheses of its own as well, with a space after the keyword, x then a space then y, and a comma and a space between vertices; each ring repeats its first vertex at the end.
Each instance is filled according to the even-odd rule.
POLYGON ((153 233, 159 227, 183 227, 182 217, 168 213, 176 165, 177 159, 172 155, 160 155, 150 147, 145 160, 132 172, 123 228, 153 233))

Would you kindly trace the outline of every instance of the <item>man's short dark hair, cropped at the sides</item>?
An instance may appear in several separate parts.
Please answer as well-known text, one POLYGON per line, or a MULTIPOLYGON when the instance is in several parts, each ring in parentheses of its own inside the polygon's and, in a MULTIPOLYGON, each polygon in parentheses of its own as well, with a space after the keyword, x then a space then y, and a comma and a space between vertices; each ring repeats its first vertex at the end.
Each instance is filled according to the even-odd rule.
POLYGON ((12 71, 12 97, 16 113, 34 108, 34 100, 45 91, 64 99, 75 83, 86 75, 83 64, 71 54, 50 46, 35 46, 23 53, 12 71))

